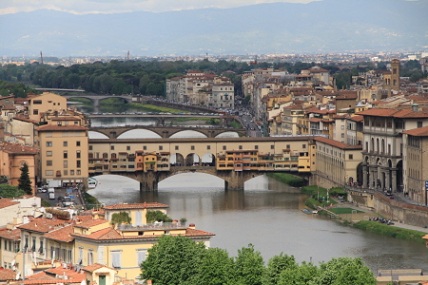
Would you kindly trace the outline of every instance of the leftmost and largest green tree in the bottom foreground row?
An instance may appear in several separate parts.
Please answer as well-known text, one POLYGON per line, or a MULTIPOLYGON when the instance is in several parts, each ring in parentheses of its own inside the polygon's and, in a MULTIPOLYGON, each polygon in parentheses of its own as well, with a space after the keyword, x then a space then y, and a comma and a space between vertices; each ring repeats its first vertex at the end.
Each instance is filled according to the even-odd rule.
POLYGON ((141 263, 141 277, 154 285, 191 284, 205 252, 203 243, 183 236, 162 236, 141 263))

